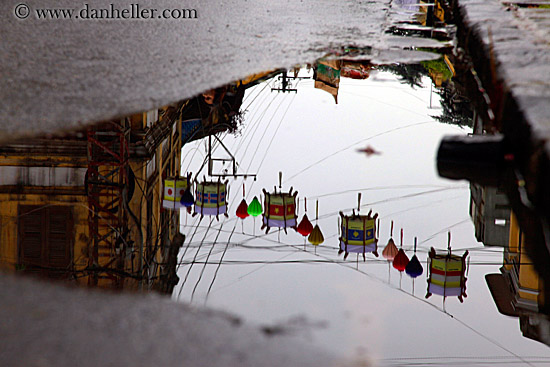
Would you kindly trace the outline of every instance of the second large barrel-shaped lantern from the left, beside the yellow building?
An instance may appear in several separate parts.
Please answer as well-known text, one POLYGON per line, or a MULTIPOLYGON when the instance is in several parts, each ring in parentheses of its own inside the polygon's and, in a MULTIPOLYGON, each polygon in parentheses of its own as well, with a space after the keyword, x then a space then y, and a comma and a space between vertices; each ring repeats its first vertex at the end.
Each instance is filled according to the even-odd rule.
POLYGON ((227 182, 203 181, 196 185, 195 189, 195 213, 200 214, 201 219, 205 215, 218 216, 223 214, 227 217, 227 182))

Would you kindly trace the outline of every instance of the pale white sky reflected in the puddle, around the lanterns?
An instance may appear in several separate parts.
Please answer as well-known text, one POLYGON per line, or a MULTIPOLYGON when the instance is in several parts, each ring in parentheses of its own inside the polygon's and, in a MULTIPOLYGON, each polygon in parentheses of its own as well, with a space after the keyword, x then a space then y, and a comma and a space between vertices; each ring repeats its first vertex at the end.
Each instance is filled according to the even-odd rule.
MULTIPOLYGON (((303 69, 300 76, 311 77, 303 69)), ((375 365, 546 365, 550 350, 524 338, 517 318, 501 315, 485 282, 498 273, 502 248, 478 243, 469 217, 464 181, 436 173, 436 151, 447 134, 467 134, 432 116, 440 110, 431 81, 411 88, 388 72, 366 80, 342 78, 338 104, 315 89, 312 79, 295 82, 297 93, 277 93, 276 79, 247 90, 244 123, 237 135, 222 135, 240 174, 229 178, 229 217, 192 217, 182 211, 186 241, 180 251, 179 284, 173 297, 223 309, 269 330, 292 333, 342 356, 375 365), (431 107, 430 107, 431 105, 431 107), (367 156, 371 147, 380 154, 367 156), (314 247, 294 230, 261 231, 261 216, 241 220, 235 211, 262 189, 298 191, 298 217, 317 222, 325 241, 314 247), (381 254, 390 237, 417 256, 424 274, 414 281, 382 256, 338 255, 338 212, 350 214, 362 194, 361 213, 379 213, 381 254), (315 221, 315 202, 319 202, 315 221), (426 294, 430 247, 444 251, 452 233, 453 253, 470 253, 467 298, 426 294), (539 363, 537 363, 539 362, 539 363)), ((206 140, 183 147, 182 173, 202 178, 206 140)), ((213 157, 225 157, 218 145, 213 157)), ((223 172, 223 166, 214 171, 223 172)), ((263 198, 262 198, 263 199, 263 198)), ((261 200, 263 203, 263 200, 261 200)))

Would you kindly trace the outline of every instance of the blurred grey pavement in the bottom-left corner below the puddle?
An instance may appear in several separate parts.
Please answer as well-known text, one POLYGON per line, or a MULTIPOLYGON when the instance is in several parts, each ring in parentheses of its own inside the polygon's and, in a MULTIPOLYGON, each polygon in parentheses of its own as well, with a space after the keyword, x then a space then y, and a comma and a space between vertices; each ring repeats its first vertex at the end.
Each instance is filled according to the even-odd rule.
POLYGON ((310 343, 273 340, 227 313, 175 305, 158 295, 106 294, 5 275, 0 284, 5 366, 343 363, 310 343))

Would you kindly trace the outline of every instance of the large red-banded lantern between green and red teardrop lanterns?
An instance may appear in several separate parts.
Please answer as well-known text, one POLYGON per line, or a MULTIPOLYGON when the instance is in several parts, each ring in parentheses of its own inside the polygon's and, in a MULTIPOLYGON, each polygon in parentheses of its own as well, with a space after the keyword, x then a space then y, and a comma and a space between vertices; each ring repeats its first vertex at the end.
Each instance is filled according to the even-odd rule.
MULTIPOLYGON (((279 172, 279 189, 282 186, 282 172, 279 172)), ((294 228, 296 230, 296 196, 298 191, 292 192, 292 187, 288 193, 286 192, 277 192, 277 187, 275 191, 270 194, 265 189, 264 192, 264 216, 262 228, 267 234, 271 227, 277 227, 286 229, 288 227, 294 228)))

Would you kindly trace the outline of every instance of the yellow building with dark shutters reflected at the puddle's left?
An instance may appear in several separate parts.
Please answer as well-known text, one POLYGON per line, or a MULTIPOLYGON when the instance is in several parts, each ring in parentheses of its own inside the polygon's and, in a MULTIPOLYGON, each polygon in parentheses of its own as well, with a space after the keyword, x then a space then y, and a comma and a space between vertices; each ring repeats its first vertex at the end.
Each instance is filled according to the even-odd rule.
POLYGON ((161 207, 163 177, 179 174, 180 108, 0 147, 1 268, 166 288, 170 246, 182 243, 179 215, 161 207))

